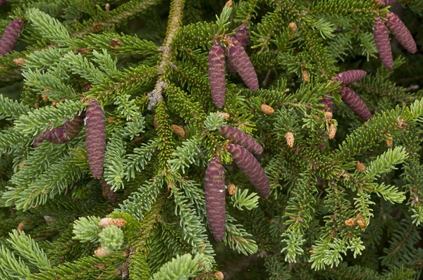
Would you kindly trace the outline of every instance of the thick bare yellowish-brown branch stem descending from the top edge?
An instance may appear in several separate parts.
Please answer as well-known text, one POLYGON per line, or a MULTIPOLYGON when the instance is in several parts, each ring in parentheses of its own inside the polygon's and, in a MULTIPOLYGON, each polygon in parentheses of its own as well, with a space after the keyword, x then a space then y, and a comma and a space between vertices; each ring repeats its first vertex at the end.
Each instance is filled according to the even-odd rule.
POLYGON ((164 39, 163 45, 161 46, 163 52, 161 53, 161 59, 159 65, 157 66, 159 77, 157 79, 154 90, 149 94, 149 110, 152 110, 152 108, 156 106, 157 102, 161 101, 161 99, 163 98, 163 91, 168 84, 167 75, 168 71, 171 68, 171 62, 174 52, 174 50, 171 49, 171 44, 173 37, 175 37, 175 34, 179 31, 180 25, 182 24, 184 4, 185 0, 171 1, 171 11, 169 13, 168 18, 166 37, 164 39))

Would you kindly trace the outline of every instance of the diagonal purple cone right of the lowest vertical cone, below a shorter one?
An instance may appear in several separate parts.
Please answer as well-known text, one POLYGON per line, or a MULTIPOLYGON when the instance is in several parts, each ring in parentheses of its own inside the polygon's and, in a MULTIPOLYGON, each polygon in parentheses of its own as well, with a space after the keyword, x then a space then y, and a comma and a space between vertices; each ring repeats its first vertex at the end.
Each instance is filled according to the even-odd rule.
POLYGON ((270 194, 270 182, 264 173, 262 165, 246 148, 237 144, 228 145, 229 153, 233 161, 245 174, 251 184, 255 186, 259 196, 268 197, 270 194))

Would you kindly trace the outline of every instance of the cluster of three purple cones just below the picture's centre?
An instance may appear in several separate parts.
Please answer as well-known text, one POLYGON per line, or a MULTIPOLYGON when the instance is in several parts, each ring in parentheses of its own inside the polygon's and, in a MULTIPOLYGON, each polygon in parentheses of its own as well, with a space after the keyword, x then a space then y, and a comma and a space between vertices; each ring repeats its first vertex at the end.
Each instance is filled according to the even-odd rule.
MULTIPOLYGON (((255 186, 259 196, 268 197, 270 194, 269 178, 252 154, 261 154, 263 147, 250 135, 230 125, 221 127, 221 135, 232 141, 233 144, 228 144, 227 149, 235 164, 255 186)), ((207 165, 204 193, 207 218, 212 234, 216 241, 222 241, 226 226, 225 170, 217 156, 207 165)))

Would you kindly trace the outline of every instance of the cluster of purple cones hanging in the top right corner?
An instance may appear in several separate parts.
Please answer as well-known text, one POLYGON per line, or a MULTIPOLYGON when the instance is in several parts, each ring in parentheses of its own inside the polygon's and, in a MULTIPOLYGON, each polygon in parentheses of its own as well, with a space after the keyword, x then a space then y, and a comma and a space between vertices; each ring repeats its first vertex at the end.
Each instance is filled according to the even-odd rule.
MULTIPOLYGON (((377 0, 383 7, 393 3, 393 0, 377 0)), ((386 22, 379 16, 373 25, 373 36, 374 42, 376 42, 376 48, 379 52, 379 57, 386 68, 391 69, 393 66, 391 44, 389 42, 388 29, 391 31, 393 36, 396 37, 398 42, 410 53, 417 52, 417 46, 415 40, 412 38, 410 30, 407 29, 405 24, 400 20, 398 15, 388 11, 385 15, 386 22)))

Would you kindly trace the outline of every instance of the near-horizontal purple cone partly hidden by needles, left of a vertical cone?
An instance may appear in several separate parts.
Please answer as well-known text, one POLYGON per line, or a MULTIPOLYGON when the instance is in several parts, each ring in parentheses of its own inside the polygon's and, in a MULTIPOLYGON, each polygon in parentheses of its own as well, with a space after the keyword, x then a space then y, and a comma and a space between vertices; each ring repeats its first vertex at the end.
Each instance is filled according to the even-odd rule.
POLYGON ((56 127, 47 132, 41 132, 39 137, 51 143, 61 144, 74 139, 80 133, 84 124, 84 113, 76 115, 73 119, 66 120, 61 127, 56 127))

